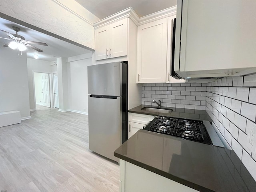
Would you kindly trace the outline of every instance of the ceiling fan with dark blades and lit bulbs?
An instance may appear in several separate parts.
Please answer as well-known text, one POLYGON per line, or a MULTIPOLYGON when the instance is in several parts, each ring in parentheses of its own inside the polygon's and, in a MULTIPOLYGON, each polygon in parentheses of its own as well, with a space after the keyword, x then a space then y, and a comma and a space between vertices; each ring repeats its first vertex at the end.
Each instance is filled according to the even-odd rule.
POLYGON ((30 47, 30 48, 38 51, 38 52, 43 52, 43 50, 41 50, 41 49, 31 45, 31 44, 38 44, 38 45, 48 46, 48 44, 46 44, 46 43, 25 40, 25 38, 23 36, 18 35, 18 32, 20 31, 20 28, 18 28, 18 27, 12 27, 12 28, 13 28, 14 31, 16 31, 16 34, 11 34, 7 31, 0 30, 0 31, 4 32, 5 34, 7 34, 8 37, 9 37, 9 38, 4 38, 4 37, 0 37, 0 38, 11 40, 11 42, 3 45, 3 47, 10 47, 12 49, 18 48, 18 50, 24 51, 24 50, 26 50, 26 46, 27 46, 27 47, 30 47))

